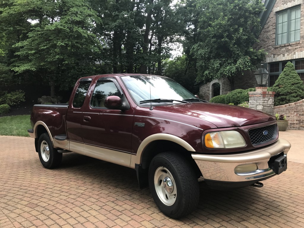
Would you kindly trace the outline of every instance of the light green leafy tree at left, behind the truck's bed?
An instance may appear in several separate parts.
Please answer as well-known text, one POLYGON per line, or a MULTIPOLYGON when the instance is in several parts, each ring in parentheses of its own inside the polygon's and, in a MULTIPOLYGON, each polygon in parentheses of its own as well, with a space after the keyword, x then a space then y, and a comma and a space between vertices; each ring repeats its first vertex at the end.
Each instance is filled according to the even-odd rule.
POLYGON ((69 88, 75 79, 94 72, 100 41, 93 33, 100 23, 84 0, 16 1, 5 10, 7 17, 20 14, 37 21, 24 40, 17 40, 18 61, 11 64, 17 74, 36 71, 46 74, 50 95, 55 86, 69 88))

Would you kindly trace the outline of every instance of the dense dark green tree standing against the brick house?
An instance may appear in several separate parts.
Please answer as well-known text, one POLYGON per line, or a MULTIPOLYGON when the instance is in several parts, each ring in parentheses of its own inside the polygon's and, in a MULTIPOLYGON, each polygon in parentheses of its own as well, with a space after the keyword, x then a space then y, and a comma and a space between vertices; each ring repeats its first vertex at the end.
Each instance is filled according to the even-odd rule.
POLYGON ((198 14, 198 21, 192 20, 192 36, 188 36, 188 42, 195 43, 186 46, 196 61, 197 82, 222 77, 233 82, 237 73, 260 64, 265 52, 253 48, 264 9, 260 0, 197 0, 189 1, 189 6, 198 14))

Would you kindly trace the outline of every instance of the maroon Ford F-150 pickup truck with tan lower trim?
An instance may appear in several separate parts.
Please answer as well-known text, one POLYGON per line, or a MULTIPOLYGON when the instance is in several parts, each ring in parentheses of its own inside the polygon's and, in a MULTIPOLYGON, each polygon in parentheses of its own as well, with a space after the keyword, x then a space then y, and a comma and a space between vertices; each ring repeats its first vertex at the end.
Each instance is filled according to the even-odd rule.
POLYGON ((34 105, 31 124, 45 168, 63 152, 133 168, 172 218, 197 206, 198 178, 210 188, 261 187, 286 170, 290 148, 273 116, 203 101, 156 75, 80 78, 68 104, 34 105))

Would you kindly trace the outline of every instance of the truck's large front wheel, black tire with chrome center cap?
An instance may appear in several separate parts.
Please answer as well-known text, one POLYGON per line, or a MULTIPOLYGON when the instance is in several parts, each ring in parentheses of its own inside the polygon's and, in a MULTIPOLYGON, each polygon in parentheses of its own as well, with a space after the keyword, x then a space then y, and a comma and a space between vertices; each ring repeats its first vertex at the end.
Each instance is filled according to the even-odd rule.
POLYGON ((151 161, 148 180, 153 199, 165 215, 177 219, 196 208, 199 202, 199 182, 190 162, 179 154, 157 154, 151 161), (163 180, 167 177, 170 180, 166 179, 168 182, 165 190, 163 180), (170 187, 170 181, 173 188, 170 187))

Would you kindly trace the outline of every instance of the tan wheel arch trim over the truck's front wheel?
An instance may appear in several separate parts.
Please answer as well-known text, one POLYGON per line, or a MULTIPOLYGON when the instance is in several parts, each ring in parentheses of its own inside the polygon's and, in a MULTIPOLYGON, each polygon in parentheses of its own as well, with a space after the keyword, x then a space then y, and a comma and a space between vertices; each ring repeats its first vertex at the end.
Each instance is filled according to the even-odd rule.
POLYGON ((188 151, 195 152, 194 148, 189 143, 187 143, 185 140, 179 138, 178 136, 174 136, 174 135, 170 135, 170 134, 166 134, 166 133, 157 133, 157 134, 148 136, 140 143, 140 146, 138 147, 138 150, 137 150, 137 154, 132 155, 132 157, 131 157, 131 164, 130 164, 131 168, 135 168, 135 164, 141 164, 144 150, 147 148, 147 146, 150 143, 152 143, 156 140, 171 141, 171 142, 177 143, 181 147, 184 147, 188 151))

